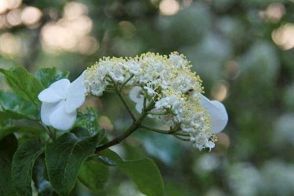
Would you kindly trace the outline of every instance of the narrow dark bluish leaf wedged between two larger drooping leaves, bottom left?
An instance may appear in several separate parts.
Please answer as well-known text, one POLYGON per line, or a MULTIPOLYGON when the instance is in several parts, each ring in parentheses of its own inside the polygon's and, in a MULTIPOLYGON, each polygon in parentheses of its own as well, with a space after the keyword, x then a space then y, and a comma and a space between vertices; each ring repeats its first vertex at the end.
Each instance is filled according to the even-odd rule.
POLYGON ((44 157, 37 159, 32 173, 32 179, 38 192, 38 196, 58 196, 51 187, 50 182, 46 179, 47 170, 45 167, 44 157))

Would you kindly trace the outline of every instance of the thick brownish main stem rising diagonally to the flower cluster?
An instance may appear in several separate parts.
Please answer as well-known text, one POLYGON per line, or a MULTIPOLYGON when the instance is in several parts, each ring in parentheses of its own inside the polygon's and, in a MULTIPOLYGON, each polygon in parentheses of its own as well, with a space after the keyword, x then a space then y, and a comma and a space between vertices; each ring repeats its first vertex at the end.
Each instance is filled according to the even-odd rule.
MULTIPOLYGON (((150 110, 154 107, 155 103, 154 102, 150 102, 148 105, 147 105, 147 110, 150 110)), ((129 135, 131 135, 134 131, 136 131, 140 126, 141 126, 141 123, 143 122, 143 120, 145 119, 145 117, 147 116, 148 114, 146 112, 142 112, 140 117, 135 121, 133 122, 127 129, 126 131, 123 132, 123 134, 121 134, 119 137, 111 140, 110 142, 102 145, 102 146, 99 146, 96 148, 95 150, 95 154, 97 154, 98 152, 100 152, 101 150, 103 149, 106 149, 108 147, 112 147, 114 145, 117 145, 117 144, 120 144, 125 138, 127 138, 129 135)))

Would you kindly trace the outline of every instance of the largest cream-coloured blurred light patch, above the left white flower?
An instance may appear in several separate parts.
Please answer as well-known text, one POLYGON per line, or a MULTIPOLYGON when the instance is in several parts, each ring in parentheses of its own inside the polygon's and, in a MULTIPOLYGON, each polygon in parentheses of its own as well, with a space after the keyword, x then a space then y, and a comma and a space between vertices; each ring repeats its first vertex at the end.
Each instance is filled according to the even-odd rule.
MULTIPOLYGON (((49 22, 41 30, 41 41, 44 49, 52 54, 60 51, 79 52, 91 55, 99 48, 95 37, 89 36, 93 21, 87 15, 86 5, 69 2, 64 7, 64 14, 57 22, 49 22)), ((50 10, 56 18, 54 9, 50 10)))

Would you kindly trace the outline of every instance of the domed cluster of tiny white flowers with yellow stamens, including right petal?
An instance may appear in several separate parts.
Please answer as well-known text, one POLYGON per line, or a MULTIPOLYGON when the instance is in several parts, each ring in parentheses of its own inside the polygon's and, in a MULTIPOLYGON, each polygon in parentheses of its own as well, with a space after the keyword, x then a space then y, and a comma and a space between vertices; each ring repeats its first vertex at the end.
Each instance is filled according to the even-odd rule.
POLYGON ((227 114, 220 102, 202 96, 202 81, 191 67, 177 52, 169 56, 148 52, 134 58, 104 57, 88 68, 84 82, 88 93, 95 96, 101 96, 111 83, 135 86, 130 98, 139 112, 144 98, 147 103, 154 101, 149 117, 188 135, 199 150, 211 149, 216 141, 213 133, 224 128, 227 114))

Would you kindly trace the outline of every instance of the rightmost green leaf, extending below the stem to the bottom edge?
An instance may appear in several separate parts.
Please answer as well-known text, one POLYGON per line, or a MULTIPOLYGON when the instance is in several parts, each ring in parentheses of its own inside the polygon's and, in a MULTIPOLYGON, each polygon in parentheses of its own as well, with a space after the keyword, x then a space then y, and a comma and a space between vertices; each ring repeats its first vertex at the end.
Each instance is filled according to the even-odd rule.
POLYGON ((118 168, 138 186, 147 196, 163 196, 164 187, 161 174, 155 163, 148 158, 139 160, 123 160, 110 149, 99 152, 100 156, 108 157, 116 162, 118 168))

